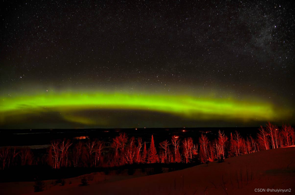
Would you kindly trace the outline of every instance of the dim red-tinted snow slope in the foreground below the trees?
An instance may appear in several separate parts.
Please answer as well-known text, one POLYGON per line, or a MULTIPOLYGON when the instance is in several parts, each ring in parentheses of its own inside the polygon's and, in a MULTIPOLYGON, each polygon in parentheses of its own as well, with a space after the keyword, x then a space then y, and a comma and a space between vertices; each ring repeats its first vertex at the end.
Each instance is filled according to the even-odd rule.
POLYGON ((255 192, 255 189, 291 189, 284 194, 295 194, 295 147, 271 149, 225 159, 223 163, 211 162, 208 166, 201 164, 120 181, 101 180, 81 187, 78 182, 67 183, 31 194, 281 194, 255 192))

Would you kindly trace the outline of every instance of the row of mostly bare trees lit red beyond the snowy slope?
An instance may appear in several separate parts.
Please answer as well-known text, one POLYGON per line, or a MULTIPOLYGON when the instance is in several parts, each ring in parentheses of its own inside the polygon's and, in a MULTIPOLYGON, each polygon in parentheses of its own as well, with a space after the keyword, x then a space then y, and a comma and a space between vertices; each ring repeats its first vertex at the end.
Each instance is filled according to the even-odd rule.
POLYGON ((128 138, 120 133, 111 142, 98 139, 53 140, 50 147, 33 154, 30 148, 1 147, 1 169, 25 165, 49 165, 53 169, 61 167, 115 167, 126 164, 147 163, 191 163, 222 161, 227 157, 249 154, 266 149, 294 145, 294 128, 283 125, 281 128, 270 122, 260 127, 256 137, 242 137, 235 131, 227 137, 218 132, 214 140, 209 140, 206 133, 198 140, 191 137, 180 139, 173 135, 155 145, 153 135, 150 142, 141 137, 128 138))

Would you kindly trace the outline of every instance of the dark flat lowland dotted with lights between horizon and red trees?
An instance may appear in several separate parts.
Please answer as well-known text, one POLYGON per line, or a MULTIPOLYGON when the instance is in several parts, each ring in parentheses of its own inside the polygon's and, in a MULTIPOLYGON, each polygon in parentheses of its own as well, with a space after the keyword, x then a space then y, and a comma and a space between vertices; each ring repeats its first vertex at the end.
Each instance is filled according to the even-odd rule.
POLYGON ((0 146, 30 146, 50 144, 54 139, 74 139, 74 137, 88 136, 110 142, 120 132, 126 132, 128 137, 142 137, 143 141, 150 142, 151 135, 155 143, 171 140, 177 135, 181 139, 192 137, 197 142, 201 133, 206 133, 209 139, 217 137, 218 130, 224 131, 229 137, 236 130, 241 136, 256 136, 259 127, 204 127, 204 128, 130 128, 130 129, 40 129, 40 130, 0 130, 0 146))

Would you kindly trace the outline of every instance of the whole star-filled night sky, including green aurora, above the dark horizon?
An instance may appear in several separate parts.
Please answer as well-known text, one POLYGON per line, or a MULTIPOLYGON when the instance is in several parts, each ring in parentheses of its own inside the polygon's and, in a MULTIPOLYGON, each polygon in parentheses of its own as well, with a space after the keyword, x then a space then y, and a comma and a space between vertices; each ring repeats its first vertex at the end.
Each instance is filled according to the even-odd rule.
POLYGON ((294 1, 2 1, 0 128, 295 124, 294 1))

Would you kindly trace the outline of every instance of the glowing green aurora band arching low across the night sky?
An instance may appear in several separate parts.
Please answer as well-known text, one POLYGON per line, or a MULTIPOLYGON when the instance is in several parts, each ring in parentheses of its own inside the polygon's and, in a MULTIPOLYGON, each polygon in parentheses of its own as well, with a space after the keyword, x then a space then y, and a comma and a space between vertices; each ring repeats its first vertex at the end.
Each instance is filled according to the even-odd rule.
MULTIPOLYGON (((83 110, 154 111, 189 120, 281 121, 291 116, 270 102, 200 98, 193 95, 124 92, 47 92, 1 97, 0 122, 34 113, 58 112, 63 120, 100 124, 95 119, 69 115, 83 110)), ((99 117, 97 118, 99 120, 99 117)))

